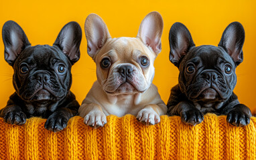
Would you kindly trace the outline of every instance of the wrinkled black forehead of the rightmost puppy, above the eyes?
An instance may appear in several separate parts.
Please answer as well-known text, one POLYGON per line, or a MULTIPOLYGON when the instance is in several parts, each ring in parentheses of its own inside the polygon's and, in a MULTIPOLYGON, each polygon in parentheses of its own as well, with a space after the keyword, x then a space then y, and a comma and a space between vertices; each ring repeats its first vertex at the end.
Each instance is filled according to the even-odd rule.
POLYGON ((184 64, 194 63, 198 65, 198 63, 202 63, 205 68, 212 68, 222 62, 235 66, 233 59, 224 49, 213 45, 201 45, 192 48, 184 57, 184 61, 186 61, 184 64))

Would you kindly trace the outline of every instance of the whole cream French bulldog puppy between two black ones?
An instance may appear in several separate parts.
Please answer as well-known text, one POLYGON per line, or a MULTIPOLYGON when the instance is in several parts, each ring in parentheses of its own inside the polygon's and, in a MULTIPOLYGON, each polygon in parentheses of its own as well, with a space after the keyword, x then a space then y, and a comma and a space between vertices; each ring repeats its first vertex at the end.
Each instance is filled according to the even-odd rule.
POLYGON ((152 84, 153 62, 160 53, 163 19, 149 13, 137 37, 111 38, 107 25, 96 14, 84 24, 87 52, 97 65, 97 81, 79 108, 84 123, 94 128, 107 123, 107 115, 137 116, 147 125, 159 123, 167 107, 152 84))

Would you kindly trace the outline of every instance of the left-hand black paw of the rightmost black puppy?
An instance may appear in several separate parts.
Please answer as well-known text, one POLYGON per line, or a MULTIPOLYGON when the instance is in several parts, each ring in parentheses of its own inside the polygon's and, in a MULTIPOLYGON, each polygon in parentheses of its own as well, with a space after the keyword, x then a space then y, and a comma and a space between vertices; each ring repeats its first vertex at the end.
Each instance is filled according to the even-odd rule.
POLYGON ((182 122, 198 125, 204 120, 204 115, 198 109, 190 109, 181 113, 182 122))

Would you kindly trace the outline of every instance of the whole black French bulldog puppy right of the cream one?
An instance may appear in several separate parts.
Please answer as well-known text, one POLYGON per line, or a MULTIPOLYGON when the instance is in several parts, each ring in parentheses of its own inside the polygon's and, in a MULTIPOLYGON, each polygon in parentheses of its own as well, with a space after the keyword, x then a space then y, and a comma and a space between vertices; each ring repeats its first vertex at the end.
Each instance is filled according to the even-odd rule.
POLYGON ((201 123, 205 113, 227 115, 235 126, 248 125, 251 111, 233 93, 235 69, 243 61, 245 31, 241 23, 233 22, 225 29, 218 47, 195 47, 182 23, 172 25, 169 41, 170 61, 180 74, 168 100, 168 114, 180 115, 190 125, 201 123))

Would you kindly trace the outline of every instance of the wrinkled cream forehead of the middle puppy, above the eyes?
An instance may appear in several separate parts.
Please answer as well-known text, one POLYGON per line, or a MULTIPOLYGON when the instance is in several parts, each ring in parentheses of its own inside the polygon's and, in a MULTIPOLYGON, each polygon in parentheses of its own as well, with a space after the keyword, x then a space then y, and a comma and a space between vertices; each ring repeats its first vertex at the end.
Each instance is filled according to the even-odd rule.
POLYGON ((122 63, 129 63, 140 55, 147 55, 149 59, 154 59, 152 51, 145 46, 140 39, 133 37, 119 37, 109 39, 97 54, 96 61, 101 61, 103 57, 111 57, 112 61, 119 60, 122 63), (151 53, 151 54, 149 54, 151 53))

